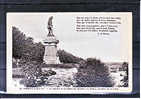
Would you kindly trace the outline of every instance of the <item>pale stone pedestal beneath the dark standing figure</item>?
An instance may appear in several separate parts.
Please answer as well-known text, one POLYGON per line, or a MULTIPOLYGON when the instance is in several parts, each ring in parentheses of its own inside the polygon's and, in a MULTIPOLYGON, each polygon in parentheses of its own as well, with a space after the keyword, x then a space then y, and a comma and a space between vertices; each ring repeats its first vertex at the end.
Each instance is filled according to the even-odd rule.
POLYGON ((58 64, 58 56, 57 56, 57 44, 59 40, 53 36, 47 36, 44 40, 45 53, 44 53, 44 62, 46 64, 58 64))

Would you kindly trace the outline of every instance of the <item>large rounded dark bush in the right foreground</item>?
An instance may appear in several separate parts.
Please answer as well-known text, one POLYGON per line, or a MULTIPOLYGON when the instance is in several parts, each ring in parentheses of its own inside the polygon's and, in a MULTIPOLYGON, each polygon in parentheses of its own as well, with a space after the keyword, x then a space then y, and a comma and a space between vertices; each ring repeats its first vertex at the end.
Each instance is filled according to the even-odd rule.
POLYGON ((112 87, 114 85, 108 67, 95 58, 88 58, 86 66, 78 69, 76 80, 78 87, 112 87))

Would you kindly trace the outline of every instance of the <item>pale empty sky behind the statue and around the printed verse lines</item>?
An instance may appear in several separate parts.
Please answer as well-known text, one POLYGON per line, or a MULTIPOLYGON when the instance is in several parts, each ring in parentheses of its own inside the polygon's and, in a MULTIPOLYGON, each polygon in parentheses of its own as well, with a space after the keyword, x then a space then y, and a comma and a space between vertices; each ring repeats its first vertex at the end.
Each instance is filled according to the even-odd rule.
POLYGON ((53 16, 53 33, 59 40, 58 49, 75 56, 97 58, 104 62, 123 62, 129 59, 131 29, 129 13, 7 13, 7 33, 16 26, 35 42, 43 42, 48 34, 47 22, 53 16), (120 16, 119 32, 99 36, 94 32, 77 32, 77 16, 120 16))

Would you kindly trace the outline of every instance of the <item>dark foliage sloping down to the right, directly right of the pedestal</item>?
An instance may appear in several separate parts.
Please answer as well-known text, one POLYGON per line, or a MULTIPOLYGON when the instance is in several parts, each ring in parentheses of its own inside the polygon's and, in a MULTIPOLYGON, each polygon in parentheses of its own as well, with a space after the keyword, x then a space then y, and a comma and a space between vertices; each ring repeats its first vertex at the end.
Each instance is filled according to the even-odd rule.
POLYGON ((62 63, 79 63, 81 60, 83 60, 82 58, 76 57, 64 50, 58 50, 57 53, 59 60, 62 63))

